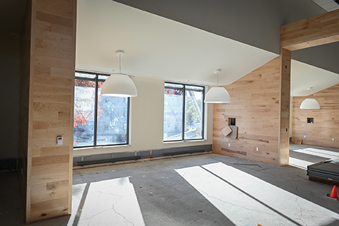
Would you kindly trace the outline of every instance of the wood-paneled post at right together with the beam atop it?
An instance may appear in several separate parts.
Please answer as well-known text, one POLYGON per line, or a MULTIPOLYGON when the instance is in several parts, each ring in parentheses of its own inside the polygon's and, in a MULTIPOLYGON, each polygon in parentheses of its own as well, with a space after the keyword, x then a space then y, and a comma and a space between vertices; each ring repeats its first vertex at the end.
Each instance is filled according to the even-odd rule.
MULTIPOLYGON (((283 25, 280 28, 280 126, 279 165, 287 165, 289 153, 291 51, 339 41, 339 9, 283 25), (288 98, 288 100, 287 100, 288 98)), ((292 129, 292 128, 291 128, 292 129)))

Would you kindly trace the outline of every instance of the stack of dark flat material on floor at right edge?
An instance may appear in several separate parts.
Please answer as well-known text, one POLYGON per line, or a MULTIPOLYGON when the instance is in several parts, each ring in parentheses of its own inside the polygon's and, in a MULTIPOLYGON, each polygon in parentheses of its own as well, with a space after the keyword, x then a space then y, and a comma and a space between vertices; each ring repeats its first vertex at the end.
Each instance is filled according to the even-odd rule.
POLYGON ((311 181, 339 186, 339 159, 309 165, 307 175, 311 181))

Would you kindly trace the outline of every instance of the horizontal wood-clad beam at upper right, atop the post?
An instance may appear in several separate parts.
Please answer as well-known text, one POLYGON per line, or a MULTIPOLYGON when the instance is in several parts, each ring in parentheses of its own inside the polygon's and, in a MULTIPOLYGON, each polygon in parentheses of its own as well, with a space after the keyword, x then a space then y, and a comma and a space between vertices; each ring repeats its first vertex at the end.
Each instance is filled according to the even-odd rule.
POLYGON ((280 28, 280 46, 290 51, 338 41, 339 9, 280 28))

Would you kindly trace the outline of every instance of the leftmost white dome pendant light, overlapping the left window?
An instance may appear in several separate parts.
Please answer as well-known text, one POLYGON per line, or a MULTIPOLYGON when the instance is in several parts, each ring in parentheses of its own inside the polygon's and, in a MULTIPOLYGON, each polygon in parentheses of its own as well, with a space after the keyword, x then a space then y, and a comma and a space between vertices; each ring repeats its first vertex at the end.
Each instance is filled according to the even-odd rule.
POLYGON ((136 85, 134 85, 129 75, 121 73, 121 56, 124 56, 124 51, 118 50, 115 52, 119 56, 119 73, 112 73, 107 78, 101 88, 101 95, 114 97, 136 97, 136 85))

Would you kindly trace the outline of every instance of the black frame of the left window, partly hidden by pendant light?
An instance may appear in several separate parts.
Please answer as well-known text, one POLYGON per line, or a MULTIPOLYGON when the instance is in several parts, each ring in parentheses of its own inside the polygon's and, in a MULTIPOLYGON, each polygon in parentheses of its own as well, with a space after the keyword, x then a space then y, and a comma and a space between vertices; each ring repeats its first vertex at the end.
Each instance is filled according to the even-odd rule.
MULTIPOLYGON (((87 81, 95 81, 95 113, 94 113, 94 142, 93 145, 84 145, 84 146, 74 146, 73 144, 73 149, 77 148, 95 148, 95 147, 107 147, 107 146, 118 146, 118 145, 129 145, 129 123, 130 123, 130 116, 129 116, 129 111, 130 111, 130 102, 131 102, 131 97, 126 97, 127 98, 127 131, 126 131, 126 143, 117 143, 117 144, 102 144, 102 145, 97 145, 97 98, 99 97, 99 92, 98 92, 98 83, 99 82, 105 82, 105 79, 99 79, 99 76, 110 76, 107 73, 97 73, 97 72, 92 72, 92 71, 75 71, 75 78, 76 79, 82 79, 82 80, 87 80, 87 81), (86 74, 91 74, 95 75, 95 78, 83 78, 83 77, 77 77, 76 73, 86 73, 86 74)), ((107 78, 108 78, 107 77, 107 78)), ((75 88, 75 84, 74 84, 75 88)), ((74 120, 74 117, 73 117, 74 120)))

